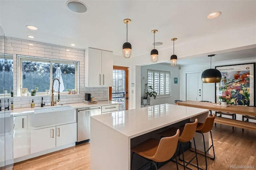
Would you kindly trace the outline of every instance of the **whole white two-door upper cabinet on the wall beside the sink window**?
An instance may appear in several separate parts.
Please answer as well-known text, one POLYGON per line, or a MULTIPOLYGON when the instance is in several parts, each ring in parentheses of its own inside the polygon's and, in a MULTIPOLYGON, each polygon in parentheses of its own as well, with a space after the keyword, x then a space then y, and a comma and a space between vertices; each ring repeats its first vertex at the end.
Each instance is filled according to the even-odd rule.
POLYGON ((85 87, 113 86, 113 52, 88 48, 85 56, 85 87))

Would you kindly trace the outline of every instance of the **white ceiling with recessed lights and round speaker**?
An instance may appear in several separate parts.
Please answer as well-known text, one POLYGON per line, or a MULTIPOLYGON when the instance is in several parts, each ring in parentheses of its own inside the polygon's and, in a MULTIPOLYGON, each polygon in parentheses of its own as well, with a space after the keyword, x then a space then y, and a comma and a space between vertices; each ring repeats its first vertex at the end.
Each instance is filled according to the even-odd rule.
MULTIPOLYGON (((171 55, 171 38, 178 38, 176 47, 212 34, 256 25, 255 0, 81 0, 88 7, 85 13, 71 11, 66 1, 1 0, 0 24, 9 37, 31 40, 27 36, 32 35, 36 42, 67 47, 72 47, 70 44, 74 43, 75 48, 94 47, 122 55, 122 44, 126 42, 123 20, 130 18, 128 42, 132 44, 132 57, 150 53, 154 48, 151 30, 158 30, 156 42, 163 42, 156 49, 170 48, 171 55), (222 15, 214 19, 206 18, 215 11, 222 12, 222 15), (26 25, 39 29, 29 30, 26 25)), ((256 37, 256 32, 252 36, 256 37)), ((255 57, 255 49, 255 45, 248 50, 242 49, 242 56, 255 57)), ((223 56, 227 55, 241 57, 240 52, 231 50, 222 57, 219 55, 219 58, 225 60, 223 56)), ((196 62, 208 62, 205 56, 186 56, 179 64, 194 62, 195 59, 191 58, 198 58, 196 62)))

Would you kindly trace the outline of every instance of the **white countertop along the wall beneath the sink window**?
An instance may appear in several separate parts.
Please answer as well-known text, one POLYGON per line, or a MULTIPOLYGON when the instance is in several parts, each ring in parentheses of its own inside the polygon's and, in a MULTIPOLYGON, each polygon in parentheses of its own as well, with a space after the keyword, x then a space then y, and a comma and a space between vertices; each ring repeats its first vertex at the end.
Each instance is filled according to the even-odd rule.
MULTIPOLYGON (((85 103, 70 103, 70 104, 66 104, 65 106, 70 106, 74 109, 79 109, 79 108, 85 108, 85 107, 94 107, 94 106, 104 106, 104 105, 114 105, 114 104, 118 104, 118 102, 115 101, 98 101, 98 103, 96 104, 85 104, 85 103)), ((64 106, 64 105, 54 105, 54 106, 44 106, 45 107, 60 107, 60 106, 64 106)), ((34 109, 39 109, 42 107, 35 107, 35 108, 30 108, 30 107, 26 107, 26 108, 18 108, 18 109, 13 109, 11 110, 11 113, 14 116, 22 116, 22 115, 29 115, 29 114, 34 114, 34 109)))

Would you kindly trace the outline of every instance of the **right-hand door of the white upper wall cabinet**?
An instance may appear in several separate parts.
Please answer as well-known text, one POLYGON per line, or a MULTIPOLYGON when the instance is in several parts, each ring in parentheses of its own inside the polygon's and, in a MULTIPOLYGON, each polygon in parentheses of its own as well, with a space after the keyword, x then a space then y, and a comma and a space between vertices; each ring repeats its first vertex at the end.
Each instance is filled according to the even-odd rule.
POLYGON ((113 86, 113 52, 102 50, 102 87, 113 86))

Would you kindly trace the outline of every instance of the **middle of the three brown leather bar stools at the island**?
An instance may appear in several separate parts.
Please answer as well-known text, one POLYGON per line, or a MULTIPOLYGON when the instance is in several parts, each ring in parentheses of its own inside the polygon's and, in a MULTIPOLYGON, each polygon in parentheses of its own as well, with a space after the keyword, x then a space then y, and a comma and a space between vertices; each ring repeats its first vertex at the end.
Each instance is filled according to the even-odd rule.
MULTIPOLYGON (((195 166, 195 167, 197 167, 199 169, 198 159, 197 159, 197 152, 196 152, 196 142, 195 142, 195 138, 194 138, 194 135, 196 133, 197 123, 198 123, 198 119, 196 119, 195 122, 193 122, 193 123, 186 123, 184 128, 180 129, 181 134, 180 134, 178 142, 179 142, 180 148, 182 150, 182 158, 183 159, 180 159, 180 160, 183 161, 184 170, 186 169, 186 167, 189 164, 191 164, 191 162, 192 162, 192 160, 194 160, 194 158, 196 158, 197 166, 195 166, 193 164, 191 164, 191 165, 193 165, 193 166, 195 166), (190 161, 187 162, 184 159, 184 151, 183 151, 182 143, 190 142, 190 140, 192 140, 192 139, 194 140, 194 147, 195 147, 196 155, 190 161), (185 165, 185 162, 186 162, 186 165, 185 165)), ((167 130, 164 130, 163 132, 160 132, 159 134, 161 134, 162 136, 172 136, 177 129, 178 128, 171 127, 171 128, 168 128, 167 130)), ((180 149, 179 149, 179 158, 180 158, 180 149)))

